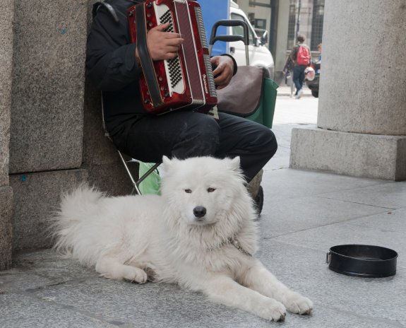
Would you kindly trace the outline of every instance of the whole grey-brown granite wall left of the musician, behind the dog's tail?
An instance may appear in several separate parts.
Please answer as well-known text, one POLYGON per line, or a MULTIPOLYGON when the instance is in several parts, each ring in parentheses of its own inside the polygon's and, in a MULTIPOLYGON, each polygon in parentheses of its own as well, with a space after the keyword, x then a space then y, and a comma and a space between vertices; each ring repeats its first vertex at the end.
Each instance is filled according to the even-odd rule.
POLYGON ((52 246, 62 192, 82 182, 131 192, 102 129, 100 93, 85 79, 94 2, 6 0, 0 11, 0 269, 11 250, 52 246))

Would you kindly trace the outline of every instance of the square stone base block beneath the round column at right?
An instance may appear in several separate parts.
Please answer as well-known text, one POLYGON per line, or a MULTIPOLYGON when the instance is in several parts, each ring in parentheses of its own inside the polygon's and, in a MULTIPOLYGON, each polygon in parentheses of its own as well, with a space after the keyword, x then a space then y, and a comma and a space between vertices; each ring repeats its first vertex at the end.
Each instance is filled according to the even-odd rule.
POLYGON ((290 168, 406 180, 406 136, 292 129, 290 168))

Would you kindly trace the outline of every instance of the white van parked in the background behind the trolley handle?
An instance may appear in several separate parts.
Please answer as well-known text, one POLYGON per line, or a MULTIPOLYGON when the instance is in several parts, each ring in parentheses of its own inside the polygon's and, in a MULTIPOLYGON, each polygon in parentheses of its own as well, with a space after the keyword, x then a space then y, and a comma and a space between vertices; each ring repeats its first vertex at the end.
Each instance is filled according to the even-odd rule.
MULTIPOLYGON (((275 64, 269 49, 261 44, 261 37, 258 37, 244 11, 241 11, 238 4, 230 0, 230 18, 245 21, 249 28, 249 64, 250 66, 265 67, 268 69, 270 78, 273 78, 275 64)), ((243 35, 243 28, 235 26, 230 28, 230 34, 243 35)), ((246 65, 245 45, 242 41, 229 42, 229 54, 234 57, 238 65, 246 65)))

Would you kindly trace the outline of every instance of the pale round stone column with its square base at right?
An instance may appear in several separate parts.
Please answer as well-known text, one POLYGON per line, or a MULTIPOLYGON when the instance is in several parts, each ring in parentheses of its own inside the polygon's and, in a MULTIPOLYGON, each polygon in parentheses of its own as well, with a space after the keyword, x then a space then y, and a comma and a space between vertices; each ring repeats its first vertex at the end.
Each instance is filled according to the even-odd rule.
POLYGON ((406 0, 326 0, 318 128, 290 167, 406 180, 406 0))

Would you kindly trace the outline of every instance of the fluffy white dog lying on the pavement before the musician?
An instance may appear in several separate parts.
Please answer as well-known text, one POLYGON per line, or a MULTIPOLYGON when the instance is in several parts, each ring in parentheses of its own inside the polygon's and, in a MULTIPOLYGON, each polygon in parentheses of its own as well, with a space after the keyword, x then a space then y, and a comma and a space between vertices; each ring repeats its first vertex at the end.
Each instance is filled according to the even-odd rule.
POLYGON ((261 262, 255 210, 239 158, 163 158, 162 196, 105 197, 89 187, 66 195, 54 223, 56 249, 102 276, 178 283, 266 320, 309 314, 261 262))

